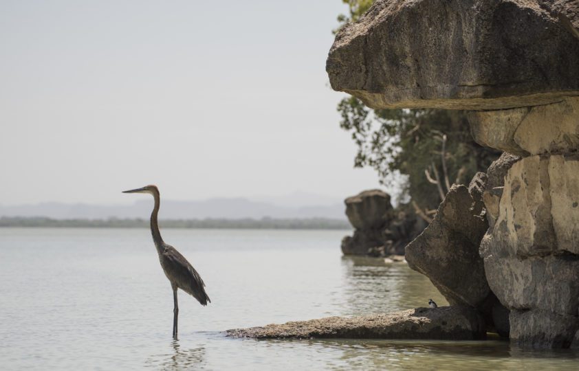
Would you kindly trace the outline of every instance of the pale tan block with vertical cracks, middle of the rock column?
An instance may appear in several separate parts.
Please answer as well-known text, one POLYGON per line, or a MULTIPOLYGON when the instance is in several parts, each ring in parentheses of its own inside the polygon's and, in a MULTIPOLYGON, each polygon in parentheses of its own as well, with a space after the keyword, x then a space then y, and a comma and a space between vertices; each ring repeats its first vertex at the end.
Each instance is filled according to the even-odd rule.
POLYGON ((579 155, 513 164, 489 236, 511 256, 579 255, 579 155))

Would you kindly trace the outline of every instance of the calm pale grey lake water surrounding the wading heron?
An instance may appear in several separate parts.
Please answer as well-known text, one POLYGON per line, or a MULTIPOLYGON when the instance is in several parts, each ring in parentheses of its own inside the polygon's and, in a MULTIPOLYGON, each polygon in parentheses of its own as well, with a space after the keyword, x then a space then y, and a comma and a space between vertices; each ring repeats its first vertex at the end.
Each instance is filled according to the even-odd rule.
POLYGON ((229 339, 228 328, 446 304, 404 263, 341 256, 346 231, 164 229, 212 303, 173 293, 147 229, 0 229, 1 370, 579 369, 507 341, 229 339))

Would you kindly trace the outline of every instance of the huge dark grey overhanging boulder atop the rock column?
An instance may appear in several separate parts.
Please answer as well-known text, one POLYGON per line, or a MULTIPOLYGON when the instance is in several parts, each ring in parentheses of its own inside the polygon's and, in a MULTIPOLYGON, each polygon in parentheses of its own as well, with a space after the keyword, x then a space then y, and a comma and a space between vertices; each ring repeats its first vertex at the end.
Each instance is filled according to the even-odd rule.
POLYGON ((326 69, 376 109, 559 102, 579 95, 578 18, 569 0, 376 0, 338 32, 326 69))

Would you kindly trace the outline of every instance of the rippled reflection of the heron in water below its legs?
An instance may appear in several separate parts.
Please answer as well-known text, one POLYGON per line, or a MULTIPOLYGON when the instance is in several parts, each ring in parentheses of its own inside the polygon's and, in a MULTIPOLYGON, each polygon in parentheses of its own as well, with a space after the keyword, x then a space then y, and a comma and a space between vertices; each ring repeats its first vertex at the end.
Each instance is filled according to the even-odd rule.
POLYGON ((145 362, 147 367, 160 370, 201 370, 204 369, 206 350, 198 348, 184 348, 179 340, 171 341, 173 352, 153 355, 145 362))

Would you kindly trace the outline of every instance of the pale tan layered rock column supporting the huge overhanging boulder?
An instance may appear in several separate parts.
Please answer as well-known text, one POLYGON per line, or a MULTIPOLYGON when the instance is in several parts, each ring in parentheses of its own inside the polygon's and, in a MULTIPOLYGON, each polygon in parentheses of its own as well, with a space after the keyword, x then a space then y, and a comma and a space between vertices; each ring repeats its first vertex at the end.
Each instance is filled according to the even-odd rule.
MULTIPOLYGON (((485 191, 480 253, 510 337, 567 348, 579 330, 579 98, 470 113, 477 141, 523 156, 485 191)), ((577 344, 573 344, 576 346, 577 344)))

